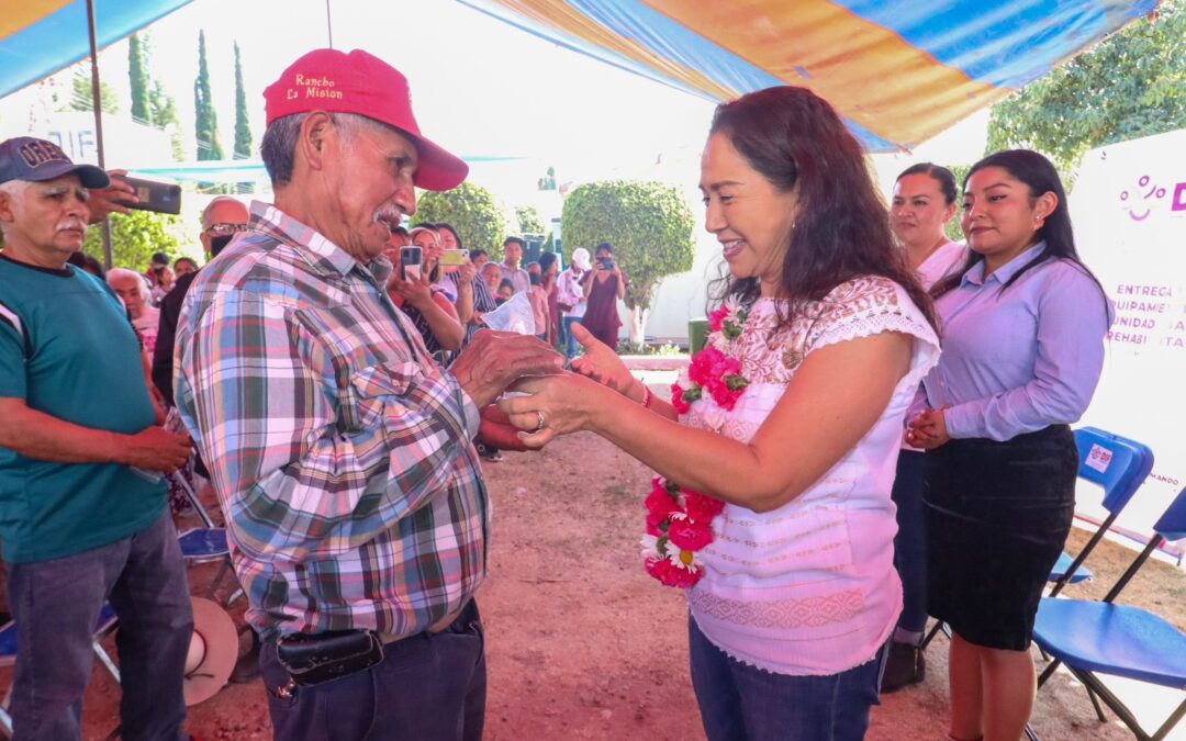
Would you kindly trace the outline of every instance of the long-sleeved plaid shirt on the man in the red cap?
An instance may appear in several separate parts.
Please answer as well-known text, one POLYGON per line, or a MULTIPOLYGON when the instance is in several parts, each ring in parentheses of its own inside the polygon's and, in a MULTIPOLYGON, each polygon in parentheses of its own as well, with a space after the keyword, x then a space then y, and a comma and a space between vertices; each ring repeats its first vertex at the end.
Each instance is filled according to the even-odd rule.
POLYGON ((177 404, 266 638, 412 635, 485 577, 478 410, 388 299, 390 270, 254 203, 186 296, 177 404))

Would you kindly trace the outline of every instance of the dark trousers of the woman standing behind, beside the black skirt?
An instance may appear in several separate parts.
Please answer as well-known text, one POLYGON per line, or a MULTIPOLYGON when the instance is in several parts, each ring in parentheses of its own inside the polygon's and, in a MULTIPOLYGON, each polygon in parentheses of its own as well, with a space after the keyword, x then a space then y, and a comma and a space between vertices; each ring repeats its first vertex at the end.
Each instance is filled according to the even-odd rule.
POLYGON ((901 577, 898 627, 911 633, 926 628, 926 455, 901 452, 891 494, 898 506, 898 535, 893 539, 893 563, 901 577))

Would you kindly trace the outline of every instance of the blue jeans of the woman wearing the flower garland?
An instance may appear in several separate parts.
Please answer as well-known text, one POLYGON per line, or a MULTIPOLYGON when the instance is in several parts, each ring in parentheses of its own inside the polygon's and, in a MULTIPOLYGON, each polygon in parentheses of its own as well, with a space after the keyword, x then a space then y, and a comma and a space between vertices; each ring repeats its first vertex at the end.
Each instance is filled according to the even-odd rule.
MULTIPOLYGON (((729 657, 688 618, 691 685, 709 741, 860 741, 886 649, 839 675, 776 675, 729 657)), ((888 645, 888 644, 887 644, 888 645)))

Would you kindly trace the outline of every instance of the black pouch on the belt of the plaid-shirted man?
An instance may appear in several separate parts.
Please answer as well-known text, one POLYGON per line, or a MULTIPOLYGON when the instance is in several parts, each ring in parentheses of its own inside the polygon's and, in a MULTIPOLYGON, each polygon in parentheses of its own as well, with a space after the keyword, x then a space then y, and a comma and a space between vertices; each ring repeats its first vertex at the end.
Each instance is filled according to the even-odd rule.
POLYGON ((276 644, 276 658, 300 686, 339 679, 383 660, 383 643, 374 631, 294 633, 276 644))

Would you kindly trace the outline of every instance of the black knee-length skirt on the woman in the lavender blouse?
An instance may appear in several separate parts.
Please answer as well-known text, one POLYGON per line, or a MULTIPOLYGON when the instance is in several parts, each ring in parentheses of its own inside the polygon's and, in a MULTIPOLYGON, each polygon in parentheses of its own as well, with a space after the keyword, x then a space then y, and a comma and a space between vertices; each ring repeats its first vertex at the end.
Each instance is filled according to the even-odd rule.
POLYGON ((930 614, 975 645, 1028 650, 1075 515, 1071 428, 951 440, 926 456, 930 614))

